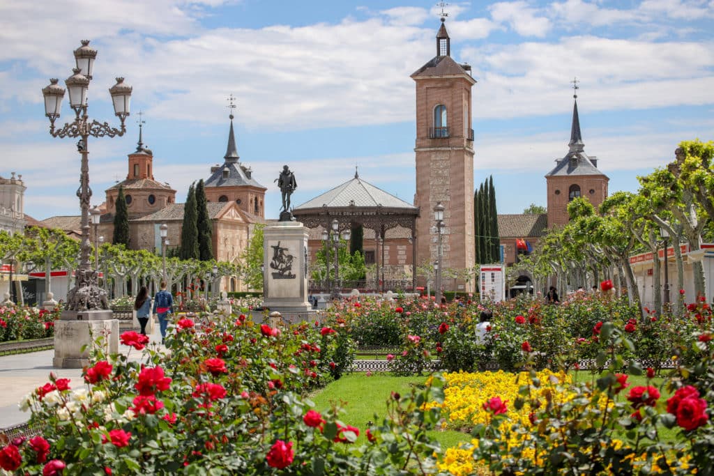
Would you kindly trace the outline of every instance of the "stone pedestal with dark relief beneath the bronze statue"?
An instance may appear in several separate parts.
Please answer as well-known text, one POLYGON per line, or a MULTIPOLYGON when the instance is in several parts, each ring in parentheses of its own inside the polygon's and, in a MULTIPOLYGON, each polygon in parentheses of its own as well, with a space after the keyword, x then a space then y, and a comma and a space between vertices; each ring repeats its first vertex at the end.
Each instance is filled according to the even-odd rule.
POLYGON ((263 229, 263 307, 291 323, 313 314, 308 302, 308 231, 296 221, 263 229))

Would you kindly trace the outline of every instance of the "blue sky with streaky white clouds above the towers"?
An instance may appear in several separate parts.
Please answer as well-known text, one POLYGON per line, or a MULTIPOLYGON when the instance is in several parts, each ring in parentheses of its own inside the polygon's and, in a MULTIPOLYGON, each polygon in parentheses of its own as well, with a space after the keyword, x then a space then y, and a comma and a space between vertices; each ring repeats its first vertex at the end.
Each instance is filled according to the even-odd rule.
MULTIPOLYGON (((609 190, 714 139, 714 0, 452 1, 451 56, 472 66, 474 183, 498 213, 545 206, 568 151, 577 78, 585 152, 609 190)), ((268 188, 288 164, 293 206, 353 178, 413 202, 415 84, 436 54, 436 1, 64 0, 0 2, 0 176, 22 176, 25 213, 79 215, 76 139, 52 138, 41 88, 71 76, 81 39, 99 51, 89 116, 118 126, 109 87, 134 87, 122 137, 89 139, 91 205, 126 178, 142 112, 154 178, 186 199, 223 163, 233 111, 241 163, 268 188)), ((74 118, 65 96, 58 125, 74 118)))

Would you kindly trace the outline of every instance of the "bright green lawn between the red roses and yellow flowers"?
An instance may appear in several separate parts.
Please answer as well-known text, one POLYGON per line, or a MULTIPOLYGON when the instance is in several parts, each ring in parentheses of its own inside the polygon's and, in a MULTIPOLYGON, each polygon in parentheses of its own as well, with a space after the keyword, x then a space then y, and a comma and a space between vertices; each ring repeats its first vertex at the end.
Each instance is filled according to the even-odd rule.
MULTIPOLYGON (((368 422, 381 423, 386 414, 387 400, 392 392, 408 395, 413 385, 421 385, 426 377, 393 377, 386 373, 363 373, 344 375, 340 380, 327 385, 311 400, 316 410, 328 410, 330 402, 336 402, 346 412, 340 420, 360 429, 358 443, 366 442, 364 430, 368 422)), ((441 443, 441 447, 456 446, 458 442, 471 440, 470 435, 452 430, 431 432, 431 437, 441 443)))

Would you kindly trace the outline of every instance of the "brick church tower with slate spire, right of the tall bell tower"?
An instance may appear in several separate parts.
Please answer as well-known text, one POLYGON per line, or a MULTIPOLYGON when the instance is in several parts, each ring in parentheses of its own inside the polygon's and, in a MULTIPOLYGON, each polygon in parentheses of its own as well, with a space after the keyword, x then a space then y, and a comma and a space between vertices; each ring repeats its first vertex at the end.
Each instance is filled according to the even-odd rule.
POLYGON ((598 158, 585 153, 578 116, 578 80, 573 81, 573 123, 565 157, 555 160, 555 168, 545 175, 548 185, 548 228, 570 221, 568 203, 586 197, 598 208, 608 196, 610 178, 598 170, 598 158))

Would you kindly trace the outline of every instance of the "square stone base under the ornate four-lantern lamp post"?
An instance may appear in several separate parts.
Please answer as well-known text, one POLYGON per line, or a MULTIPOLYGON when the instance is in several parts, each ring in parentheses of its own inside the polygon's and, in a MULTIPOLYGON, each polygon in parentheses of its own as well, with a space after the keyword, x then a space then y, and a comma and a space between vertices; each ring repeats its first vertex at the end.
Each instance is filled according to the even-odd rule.
POLYGON ((57 368, 83 368, 89 365, 91 343, 100 335, 105 336, 106 353, 119 353, 119 320, 67 320, 63 316, 54 323, 52 365, 57 368), (84 345, 86 348, 82 350, 84 345))

